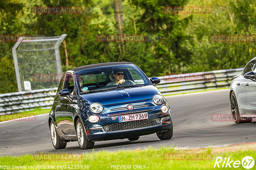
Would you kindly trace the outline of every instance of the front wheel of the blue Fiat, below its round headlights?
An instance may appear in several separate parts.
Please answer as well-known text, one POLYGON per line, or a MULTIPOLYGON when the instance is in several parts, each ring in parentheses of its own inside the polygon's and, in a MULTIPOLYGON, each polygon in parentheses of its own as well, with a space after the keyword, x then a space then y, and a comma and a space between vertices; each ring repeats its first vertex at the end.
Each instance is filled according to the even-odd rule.
POLYGON ((94 147, 94 142, 86 138, 84 126, 80 118, 76 121, 76 136, 81 149, 92 149, 94 147))

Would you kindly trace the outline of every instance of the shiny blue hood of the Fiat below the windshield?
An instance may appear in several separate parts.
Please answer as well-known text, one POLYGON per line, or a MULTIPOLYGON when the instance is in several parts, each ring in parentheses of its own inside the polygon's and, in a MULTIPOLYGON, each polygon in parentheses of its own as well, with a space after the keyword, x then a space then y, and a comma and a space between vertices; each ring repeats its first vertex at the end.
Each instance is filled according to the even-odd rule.
POLYGON ((136 100, 150 99, 155 94, 161 94, 153 85, 140 87, 126 87, 125 89, 115 89, 103 92, 95 92, 80 95, 89 103, 101 103, 102 105, 131 102, 136 100))

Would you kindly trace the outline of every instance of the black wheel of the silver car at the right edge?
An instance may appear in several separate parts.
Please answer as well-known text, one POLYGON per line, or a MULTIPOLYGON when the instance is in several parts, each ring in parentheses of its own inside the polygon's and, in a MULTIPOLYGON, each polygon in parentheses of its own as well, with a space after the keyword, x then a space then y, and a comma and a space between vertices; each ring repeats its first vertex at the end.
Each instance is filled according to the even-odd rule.
POLYGON ((250 118, 250 117, 247 117, 245 120, 242 120, 242 118, 240 117, 239 109, 237 106, 236 95, 233 91, 231 93, 229 102, 230 102, 231 115, 236 124, 252 122, 252 118, 250 118))

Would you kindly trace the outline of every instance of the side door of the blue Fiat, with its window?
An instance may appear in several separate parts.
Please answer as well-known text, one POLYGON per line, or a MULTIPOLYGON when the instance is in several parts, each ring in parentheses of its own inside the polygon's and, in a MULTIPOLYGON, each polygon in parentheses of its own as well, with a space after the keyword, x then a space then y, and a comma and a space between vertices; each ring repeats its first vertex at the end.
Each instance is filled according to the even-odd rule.
MULTIPOLYGON (((71 74, 66 74, 63 88, 68 89, 70 92, 74 90, 74 81, 71 74)), ((58 122, 61 131, 64 135, 75 135, 73 113, 72 113, 72 97, 60 97, 59 105, 57 106, 58 122)))

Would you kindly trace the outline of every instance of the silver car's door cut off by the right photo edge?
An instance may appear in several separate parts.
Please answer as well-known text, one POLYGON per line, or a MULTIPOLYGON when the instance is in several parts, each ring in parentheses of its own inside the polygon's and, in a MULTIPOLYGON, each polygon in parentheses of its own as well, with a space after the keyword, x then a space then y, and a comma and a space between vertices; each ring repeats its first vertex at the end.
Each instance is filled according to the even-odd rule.
MULTIPOLYGON (((254 60, 252 71, 254 73, 256 72, 256 60, 254 60)), ((248 113, 256 114, 256 82, 254 80, 247 79, 246 99, 248 103, 248 113)))

